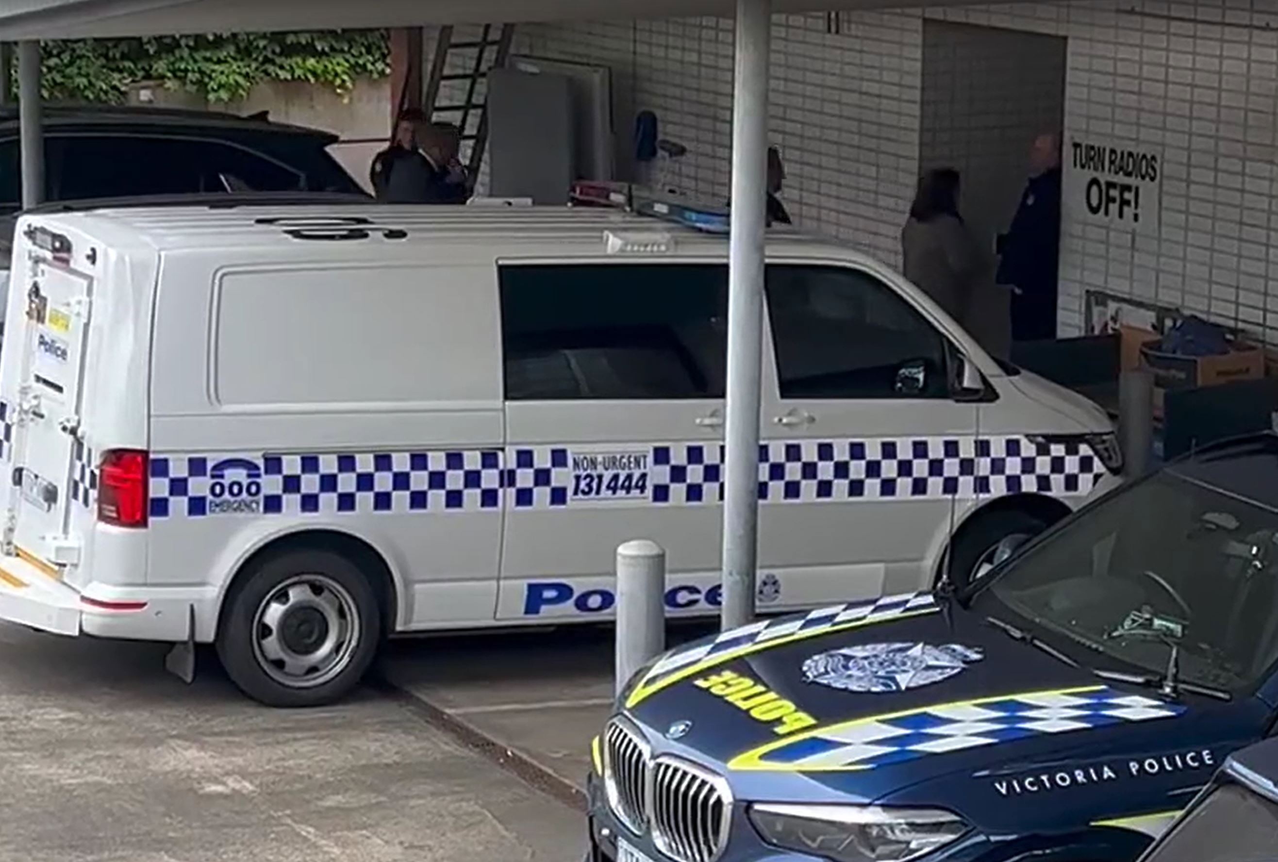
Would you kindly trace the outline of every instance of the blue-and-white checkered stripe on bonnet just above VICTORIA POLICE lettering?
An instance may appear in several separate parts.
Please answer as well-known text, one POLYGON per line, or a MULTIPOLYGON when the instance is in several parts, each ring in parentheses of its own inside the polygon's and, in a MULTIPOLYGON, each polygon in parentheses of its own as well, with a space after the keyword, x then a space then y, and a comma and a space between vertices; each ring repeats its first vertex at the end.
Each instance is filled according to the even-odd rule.
POLYGON ((755 767, 794 771, 873 769, 1026 737, 1174 718, 1183 711, 1178 704, 1109 687, 1034 692, 833 724, 773 743, 746 760, 755 767))

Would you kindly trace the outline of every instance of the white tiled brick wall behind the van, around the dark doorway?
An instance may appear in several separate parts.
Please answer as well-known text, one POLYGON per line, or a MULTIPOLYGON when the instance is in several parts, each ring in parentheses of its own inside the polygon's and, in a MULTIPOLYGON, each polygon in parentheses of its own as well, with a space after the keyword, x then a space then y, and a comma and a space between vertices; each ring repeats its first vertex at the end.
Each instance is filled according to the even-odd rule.
MULTIPOLYGON (((1132 235, 1066 220, 1063 332, 1082 328, 1084 291, 1095 287, 1278 344, 1278 289, 1269 289, 1278 275, 1278 0, 778 15, 771 128, 790 171, 785 199, 800 225, 888 261, 900 257, 919 170, 924 18, 1067 37, 1066 132, 1163 152, 1158 225, 1132 235)), ((726 195, 731 22, 529 24, 519 33, 521 51, 611 66, 622 149, 634 112, 654 110, 662 134, 689 147, 658 179, 726 195)))

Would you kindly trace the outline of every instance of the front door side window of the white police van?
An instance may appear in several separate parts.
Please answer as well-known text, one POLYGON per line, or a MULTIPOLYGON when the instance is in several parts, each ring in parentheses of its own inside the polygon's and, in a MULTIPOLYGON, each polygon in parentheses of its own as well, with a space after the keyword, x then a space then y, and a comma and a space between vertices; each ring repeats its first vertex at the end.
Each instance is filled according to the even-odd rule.
POLYGON ((941 333, 882 281, 845 267, 769 266, 782 398, 941 398, 941 333))

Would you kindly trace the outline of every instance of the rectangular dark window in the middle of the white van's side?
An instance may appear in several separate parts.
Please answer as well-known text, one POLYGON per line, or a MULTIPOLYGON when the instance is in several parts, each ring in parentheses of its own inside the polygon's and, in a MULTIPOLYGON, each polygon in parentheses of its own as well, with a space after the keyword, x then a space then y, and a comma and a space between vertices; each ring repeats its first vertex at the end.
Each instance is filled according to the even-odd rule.
POLYGON ((723 396, 727 268, 501 269, 507 401, 723 396))

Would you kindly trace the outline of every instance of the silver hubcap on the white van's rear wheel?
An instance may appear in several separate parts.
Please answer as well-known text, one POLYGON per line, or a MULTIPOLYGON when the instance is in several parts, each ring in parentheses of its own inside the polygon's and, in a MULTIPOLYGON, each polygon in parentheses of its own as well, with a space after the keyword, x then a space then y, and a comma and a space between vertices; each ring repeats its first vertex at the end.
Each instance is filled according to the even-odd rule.
POLYGON ((290 688, 322 686, 350 664, 359 645, 355 600, 326 575, 290 577, 253 618, 257 663, 290 688))

